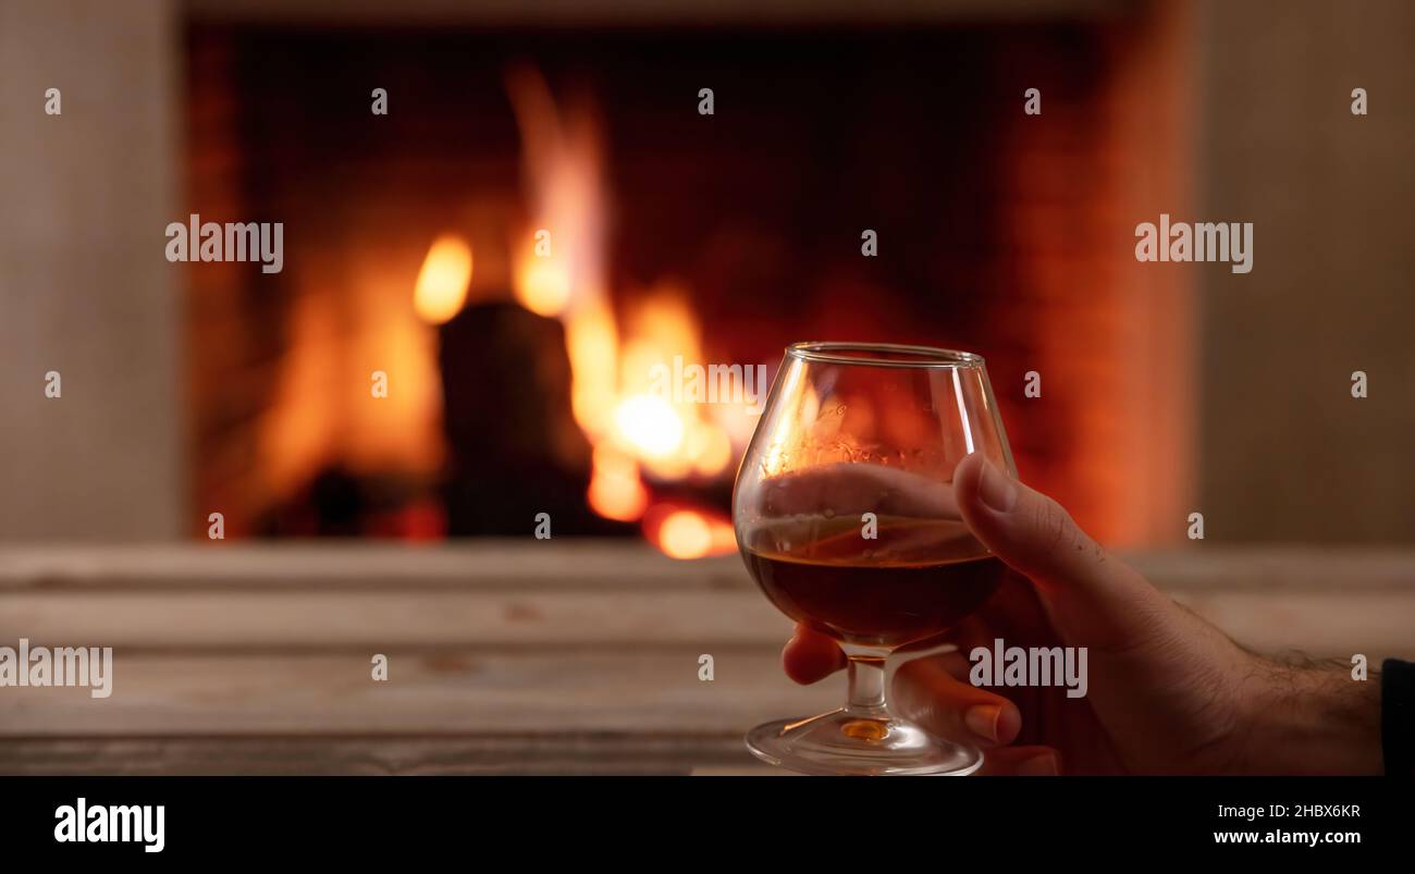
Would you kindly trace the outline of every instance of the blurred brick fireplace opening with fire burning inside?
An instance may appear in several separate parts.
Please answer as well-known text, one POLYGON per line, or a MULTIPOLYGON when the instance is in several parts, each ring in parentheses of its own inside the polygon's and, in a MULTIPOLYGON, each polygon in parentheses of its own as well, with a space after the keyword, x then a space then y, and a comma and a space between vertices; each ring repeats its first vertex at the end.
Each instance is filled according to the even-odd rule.
POLYGON ((857 339, 985 355, 1027 481, 1182 536, 1189 298, 1131 239, 1182 190, 1176 27, 191 24, 188 212, 286 229, 277 274, 187 272, 195 503, 226 536, 543 512, 730 550, 751 399, 665 403, 652 368, 857 339))

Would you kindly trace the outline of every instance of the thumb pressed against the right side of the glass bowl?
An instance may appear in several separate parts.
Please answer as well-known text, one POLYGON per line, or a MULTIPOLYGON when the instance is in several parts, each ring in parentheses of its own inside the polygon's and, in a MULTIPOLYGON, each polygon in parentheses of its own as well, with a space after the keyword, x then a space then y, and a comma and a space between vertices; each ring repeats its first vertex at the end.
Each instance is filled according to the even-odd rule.
POLYGON ((981 454, 958 462, 954 495, 974 536, 1037 585, 1065 641, 1129 648, 1174 610, 1145 577, 1082 532, 1060 503, 981 454))

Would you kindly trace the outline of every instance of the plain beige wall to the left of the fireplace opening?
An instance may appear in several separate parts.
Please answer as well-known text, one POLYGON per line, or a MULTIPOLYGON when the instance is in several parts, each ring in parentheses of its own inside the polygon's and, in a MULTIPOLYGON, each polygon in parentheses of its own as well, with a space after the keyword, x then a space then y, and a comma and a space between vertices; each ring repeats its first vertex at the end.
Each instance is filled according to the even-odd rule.
POLYGON ((163 255, 175 21, 167 0, 0 3, 0 539, 187 530, 180 267, 163 255))

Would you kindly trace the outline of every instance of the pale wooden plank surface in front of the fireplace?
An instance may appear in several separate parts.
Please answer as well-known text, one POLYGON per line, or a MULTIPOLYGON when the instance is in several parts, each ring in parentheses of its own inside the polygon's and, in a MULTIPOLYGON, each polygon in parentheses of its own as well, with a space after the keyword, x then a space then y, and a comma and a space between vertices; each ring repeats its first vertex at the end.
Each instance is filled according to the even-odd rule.
MULTIPOLYGON (((1415 658, 1415 550, 1131 560, 1257 649, 1415 658)), ((0 774, 749 772, 843 696, 788 632, 736 556, 633 542, 0 547, 0 645, 115 648, 109 699, 0 689, 0 774)))

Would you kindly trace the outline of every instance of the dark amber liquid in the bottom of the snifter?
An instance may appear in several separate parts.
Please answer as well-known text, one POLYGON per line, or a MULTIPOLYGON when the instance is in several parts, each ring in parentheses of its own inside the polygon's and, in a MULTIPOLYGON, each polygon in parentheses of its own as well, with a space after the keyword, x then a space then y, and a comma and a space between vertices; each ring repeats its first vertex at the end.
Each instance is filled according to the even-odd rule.
POLYGON ((901 646, 947 631, 998 588, 1003 564, 959 522, 792 519, 743 549, 784 614, 846 643, 901 646), (833 530, 832 530, 833 529, 833 530))

